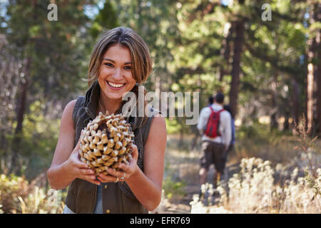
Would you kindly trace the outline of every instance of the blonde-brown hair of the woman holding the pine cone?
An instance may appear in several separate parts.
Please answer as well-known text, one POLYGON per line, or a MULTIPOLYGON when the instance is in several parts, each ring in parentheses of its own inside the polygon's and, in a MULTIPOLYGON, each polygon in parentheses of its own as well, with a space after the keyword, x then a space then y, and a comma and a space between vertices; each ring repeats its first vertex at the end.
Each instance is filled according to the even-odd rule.
MULTIPOLYGON (((138 85, 146 82, 153 70, 153 63, 151 60, 151 53, 145 41, 143 41, 143 38, 138 36, 131 28, 113 28, 106 31, 98 38, 98 41, 91 52, 91 60, 88 68, 88 86, 91 86, 94 81, 98 80, 103 54, 106 53, 109 47, 116 44, 128 48, 131 53, 131 73, 136 80, 136 86, 133 87, 131 92, 135 93, 136 98, 138 98, 138 85)), ((146 95, 145 88, 144 95, 146 95)), ((145 108, 146 100, 144 101, 144 110, 145 108)))

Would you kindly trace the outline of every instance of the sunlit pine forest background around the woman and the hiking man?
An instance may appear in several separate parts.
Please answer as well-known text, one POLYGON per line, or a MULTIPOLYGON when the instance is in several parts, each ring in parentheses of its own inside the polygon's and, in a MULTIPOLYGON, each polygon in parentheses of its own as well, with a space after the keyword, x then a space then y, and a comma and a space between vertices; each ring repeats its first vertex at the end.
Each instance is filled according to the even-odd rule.
POLYGON ((175 100, 153 213, 321 212, 320 0, 0 0, 0 213, 63 212, 46 177, 61 115, 118 26, 151 51, 147 91, 190 92, 198 113, 221 92, 235 120, 213 203, 215 170, 200 186, 201 135, 175 100))

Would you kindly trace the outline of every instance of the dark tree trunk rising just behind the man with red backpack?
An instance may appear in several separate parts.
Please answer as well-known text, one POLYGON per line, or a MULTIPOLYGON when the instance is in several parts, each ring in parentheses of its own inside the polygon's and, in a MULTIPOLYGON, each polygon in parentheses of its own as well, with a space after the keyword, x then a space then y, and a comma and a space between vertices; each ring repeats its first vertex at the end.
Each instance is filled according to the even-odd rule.
POLYGON ((230 83, 230 107, 232 109, 233 118, 235 118, 238 108, 238 87, 240 85, 240 57, 243 48, 244 29, 243 19, 235 22, 234 55, 231 71, 232 81, 230 83))

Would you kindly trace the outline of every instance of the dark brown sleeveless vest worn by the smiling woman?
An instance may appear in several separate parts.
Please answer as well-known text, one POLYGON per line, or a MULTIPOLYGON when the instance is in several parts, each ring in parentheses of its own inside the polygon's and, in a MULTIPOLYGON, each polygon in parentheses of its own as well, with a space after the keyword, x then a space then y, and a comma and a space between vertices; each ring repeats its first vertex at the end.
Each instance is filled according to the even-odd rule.
MULTIPOLYGON (((86 92, 85 96, 77 98, 75 108, 73 109, 73 123, 75 125, 76 138, 74 146, 81 134, 81 130, 86 127, 89 120, 96 118, 96 108, 100 87, 98 82, 94 82, 91 88, 86 92)), ((151 117, 143 123, 143 118, 130 117, 128 123, 135 135, 134 141, 138 147, 138 167, 143 170, 143 155, 144 145, 148 138, 151 121, 157 110, 150 108, 153 113, 151 117), (142 125, 143 123, 143 125, 142 125)), ((136 199, 131 188, 126 182, 108 182, 101 183, 103 212, 104 213, 126 213, 126 214, 141 214, 148 213, 148 210, 136 199)), ((97 185, 87 182, 86 180, 76 179, 71 182, 68 187, 68 195, 66 197, 66 205, 75 213, 93 213, 96 205, 97 185)))

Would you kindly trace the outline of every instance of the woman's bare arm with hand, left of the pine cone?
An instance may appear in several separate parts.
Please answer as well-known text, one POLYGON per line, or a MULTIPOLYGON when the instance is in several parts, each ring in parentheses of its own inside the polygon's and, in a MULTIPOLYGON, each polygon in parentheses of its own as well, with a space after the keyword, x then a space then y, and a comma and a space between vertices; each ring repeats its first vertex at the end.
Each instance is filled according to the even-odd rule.
POLYGON ((72 100, 63 110, 54 158, 47 172, 49 185, 56 190, 67 187, 76 178, 99 184, 95 181, 93 170, 88 169, 88 166, 78 159, 80 141, 73 148, 75 130, 72 113, 75 103, 76 100, 72 100))

